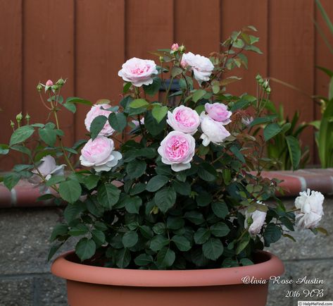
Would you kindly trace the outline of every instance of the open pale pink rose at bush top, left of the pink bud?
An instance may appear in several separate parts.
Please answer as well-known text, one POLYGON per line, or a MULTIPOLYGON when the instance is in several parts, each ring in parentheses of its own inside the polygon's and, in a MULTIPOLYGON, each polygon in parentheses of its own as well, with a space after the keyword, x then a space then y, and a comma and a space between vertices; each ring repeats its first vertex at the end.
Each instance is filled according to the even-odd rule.
POLYGON ((132 82, 134 86, 149 85, 153 82, 153 75, 156 75, 156 63, 149 59, 137 59, 133 57, 122 64, 118 75, 126 82, 132 82))

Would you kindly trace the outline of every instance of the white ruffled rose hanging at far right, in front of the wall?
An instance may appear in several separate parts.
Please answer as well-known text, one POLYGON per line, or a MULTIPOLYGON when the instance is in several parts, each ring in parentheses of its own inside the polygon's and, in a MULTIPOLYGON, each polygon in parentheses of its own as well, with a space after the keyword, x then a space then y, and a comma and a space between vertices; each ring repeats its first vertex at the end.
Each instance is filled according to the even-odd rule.
POLYGON ((299 192, 296 197, 295 207, 301 209, 296 214, 296 225, 300 228, 315 228, 324 214, 322 203, 325 197, 321 192, 310 191, 310 189, 299 192))

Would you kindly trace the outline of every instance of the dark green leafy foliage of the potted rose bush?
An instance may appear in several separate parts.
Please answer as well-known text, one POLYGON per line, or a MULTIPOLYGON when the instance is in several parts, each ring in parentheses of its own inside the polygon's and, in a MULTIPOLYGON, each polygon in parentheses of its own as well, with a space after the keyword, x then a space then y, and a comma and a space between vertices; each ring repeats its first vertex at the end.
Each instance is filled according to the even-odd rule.
MULTIPOLYGON (((288 134, 293 123, 281 123, 275 113, 265 114, 270 87, 261 77, 257 77, 261 92, 257 97, 251 94, 235 97, 227 93, 227 85, 241 78, 230 73, 225 76, 225 73, 234 68, 247 68, 248 51, 260 54, 254 32, 256 29, 251 26, 232 32, 222 43, 222 51, 213 53, 209 59, 214 66, 209 80, 199 85, 194 72, 180 64, 184 47, 175 52, 154 51, 153 54, 160 56, 161 66, 157 67, 158 75, 153 75, 151 85, 136 87, 125 82, 119 106, 110 105, 106 109, 110 114, 96 116, 90 126, 92 141, 89 145, 92 145, 103 126, 110 123, 115 133, 107 137, 115 140, 116 151, 122 158, 118 160, 119 153, 115 151, 111 154, 112 145, 107 148, 101 145, 95 147, 94 154, 80 157, 84 165, 80 170, 72 164, 73 157, 80 153, 87 140, 65 147, 58 114, 63 110, 75 112, 77 104, 91 106, 92 103, 78 97, 63 102, 57 87, 65 82, 62 79, 56 87, 39 84, 39 91, 44 87, 46 95, 51 95, 46 99, 49 104, 45 104, 50 111, 50 122, 23 126, 14 123, 11 143, 1 145, 0 153, 7 154, 13 149, 29 159, 4 177, 8 188, 13 188, 20 178, 28 178, 37 182, 39 188, 53 189, 59 195, 44 196, 41 200, 67 203, 63 224, 56 226, 51 234, 54 245, 49 257, 74 237, 80 239, 75 252, 82 261, 89 263, 96 255, 94 259, 101 260, 94 264, 103 262, 108 267, 239 267, 253 264, 253 252, 262 249, 263 243, 270 245, 294 230, 294 214, 287 212, 282 204, 268 209, 259 202, 274 196, 277 189, 277 180, 260 177, 264 165, 272 165, 270 159, 263 156, 265 141, 270 143, 283 135, 291 166, 296 168, 300 162, 297 137, 295 133, 288 134), (180 87, 174 92, 171 92, 172 80, 168 85, 165 82, 167 73, 179 82, 180 87), (164 101, 153 99, 160 87, 165 90, 164 101), (198 126, 196 133, 187 135, 196 142, 195 152, 187 157, 189 165, 185 170, 174 171, 175 167, 161 154, 161 142, 172 131, 167 121, 168 111, 182 105, 201 114, 206 103, 223 103, 234 113, 232 124, 225 125, 230 136, 221 143, 212 141, 206 145, 201 140, 201 126, 198 126), (246 125, 241 117, 249 108, 256 118, 246 125), (134 120, 139 121, 139 125, 134 120), (263 128, 261 134, 260 128, 263 128), (38 130, 37 141, 32 137, 34 130, 38 130), (33 147, 34 142, 37 147, 33 147), (42 157, 49 154, 57 159, 56 164, 66 164, 65 175, 57 172, 59 166, 50 173, 39 173, 42 157), (98 160, 91 161, 94 159, 98 160), (256 171, 256 175, 251 171, 256 171), (251 236, 247 227, 253 219, 248 214, 256 210, 268 210, 268 215, 260 233, 251 236)), ((101 99, 97 103, 110 102, 101 99)), ((17 123, 23 124, 22 121, 17 123)), ((178 145, 180 143, 175 142, 172 149, 179 149, 178 145)), ((186 146, 184 148, 186 150, 186 146)))

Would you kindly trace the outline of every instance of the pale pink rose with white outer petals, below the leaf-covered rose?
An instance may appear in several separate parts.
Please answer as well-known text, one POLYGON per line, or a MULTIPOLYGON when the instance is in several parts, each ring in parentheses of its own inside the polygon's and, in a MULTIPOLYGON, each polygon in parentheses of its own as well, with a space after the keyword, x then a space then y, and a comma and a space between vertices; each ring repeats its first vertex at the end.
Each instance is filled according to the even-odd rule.
POLYGON ((97 172, 109 171, 122 159, 122 154, 113 151, 113 140, 98 136, 89 140, 81 150, 80 161, 82 166, 93 167, 97 172))

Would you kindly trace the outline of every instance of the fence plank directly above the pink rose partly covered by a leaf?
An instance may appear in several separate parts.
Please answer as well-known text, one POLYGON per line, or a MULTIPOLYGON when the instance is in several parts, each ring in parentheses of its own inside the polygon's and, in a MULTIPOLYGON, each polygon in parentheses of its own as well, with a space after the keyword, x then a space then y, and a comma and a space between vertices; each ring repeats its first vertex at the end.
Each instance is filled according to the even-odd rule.
MULTIPOLYGON (((122 89, 118 71, 125 59, 125 0, 77 1, 75 30, 75 94, 92 102, 111 99, 117 105, 122 89)), ((76 138, 87 133, 84 118, 88 110, 78 108, 76 138)))

